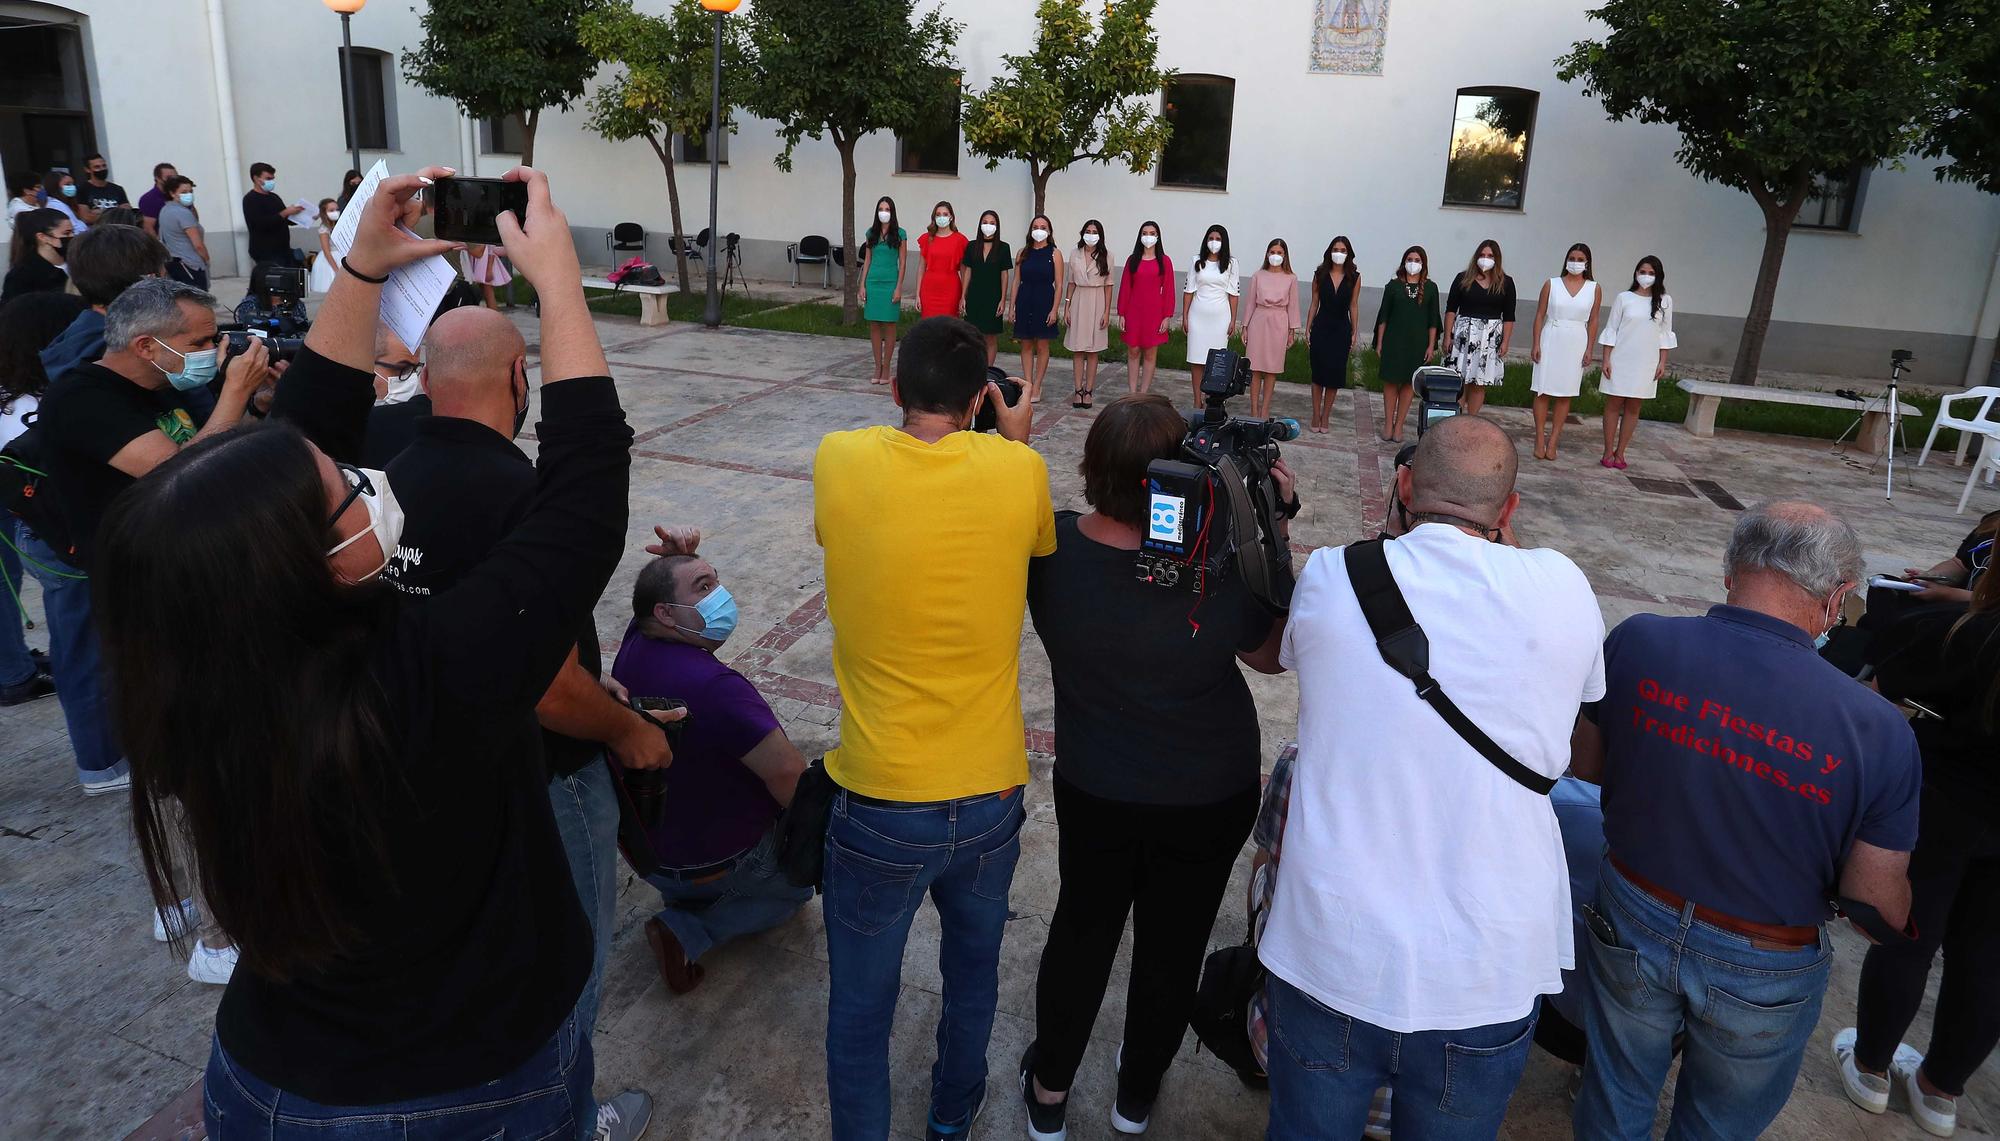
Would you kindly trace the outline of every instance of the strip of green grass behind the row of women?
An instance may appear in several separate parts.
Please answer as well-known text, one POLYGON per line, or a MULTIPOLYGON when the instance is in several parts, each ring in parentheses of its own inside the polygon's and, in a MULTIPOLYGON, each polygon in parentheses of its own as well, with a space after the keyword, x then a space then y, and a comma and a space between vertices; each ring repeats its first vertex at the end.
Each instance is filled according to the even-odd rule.
MULTIPOLYGON (((678 318, 678 314, 676 314, 678 318)), ((908 332, 916 324, 916 312, 904 310, 900 332, 908 332)), ((784 308, 766 308, 760 312, 750 312, 744 318, 730 318, 730 324, 740 328, 776 328, 784 332, 814 332, 820 336, 868 336, 868 322, 856 320, 854 324, 840 322, 838 304, 790 304, 784 308)), ((1020 342, 1010 334, 1000 336, 1000 360, 1006 366, 1006 358, 1020 358, 1020 342)), ((1066 358, 1070 350, 1058 340, 1050 346, 1050 356, 1066 358)), ((1376 372, 1374 350, 1358 352, 1360 362, 1360 384, 1370 392, 1382 390, 1382 378, 1376 372)), ((1118 332, 1112 330, 1110 348, 1100 354, 1100 360, 1114 362, 1124 360, 1126 348, 1118 332)), ((1160 346, 1160 368, 1186 368, 1188 366, 1188 338, 1182 330, 1168 334, 1166 344, 1160 346)), ((1528 382, 1534 374, 1532 364, 1510 362, 1506 366, 1506 382, 1490 388, 1486 392, 1488 404, 1498 404, 1506 408, 1526 408, 1534 394, 1528 390, 1528 382)), ((1304 344, 1294 344, 1284 358, 1284 372, 1278 374, 1282 380, 1292 380, 1298 384, 1308 384, 1312 380, 1312 364, 1306 354, 1304 344)), ((1860 382, 1856 384, 1864 392, 1872 392, 1876 386, 1860 382)), ((1598 370, 1592 368, 1584 376, 1584 392, 1570 400, 1570 410, 1582 416, 1594 416, 1604 410, 1604 396, 1598 392, 1598 370)), ((1908 438, 1920 440, 1924 432, 1930 430, 1930 416, 1936 412, 1936 400, 1932 398, 1904 398, 1904 434, 1908 438)), ((1672 372, 1660 382, 1660 394, 1646 400, 1642 416, 1648 420, 1664 420, 1678 424, 1688 414, 1688 394, 1674 386, 1672 372)), ((1804 408, 1798 404, 1752 404, 1730 400, 1722 404, 1716 414, 1718 428, 1738 428, 1746 432, 1770 432, 1780 436, 1810 436, 1820 440, 1832 440, 1840 432, 1854 424, 1854 412, 1840 408, 1804 408)), ((1956 446, 1956 432, 1938 432, 1938 446, 1956 446)))

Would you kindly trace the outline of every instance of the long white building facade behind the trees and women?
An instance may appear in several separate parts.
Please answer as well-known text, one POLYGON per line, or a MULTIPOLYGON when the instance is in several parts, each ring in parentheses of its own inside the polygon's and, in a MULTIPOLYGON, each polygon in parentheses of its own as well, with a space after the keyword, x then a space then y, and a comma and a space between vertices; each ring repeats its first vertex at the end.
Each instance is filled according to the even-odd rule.
MULTIPOLYGON (((658 12, 666 2, 638 6, 658 12)), ((1004 52, 1032 42, 1032 0, 942 6, 964 24, 958 64, 974 90, 1004 52)), ((410 8, 374 0, 352 20, 362 162, 506 170, 514 124, 474 122, 404 80, 400 54, 422 36, 410 8)), ((1640 256, 1656 254, 1676 302, 1678 356, 1726 364, 1756 282, 1762 214, 1748 194, 1684 172, 1670 126, 1608 122, 1596 100, 1554 76, 1552 60, 1574 40, 1604 32, 1586 8, 1162 0, 1160 64, 1180 78, 1160 102, 1176 142, 1148 174, 1056 174, 1048 214, 1066 244, 1098 218, 1114 254, 1130 248, 1142 220, 1156 220, 1180 264, 1220 222, 1246 272, 1274 236, 1288 240, 1304 274, 1346 234, 1370 286, 1408 244, 1424 246, 1442 276, 1494 238, 1524 296, 1522 322, 1570 242, 1592 246, 1612 292, 1640 256)), ((340 20, 322 4, 0 0, 0 162, 78 166, 102 150, 134 196, 154 162, 174 162, 200 184, 218 270, 232 268, 230 246, 240 250, 240 238, 222 234, 240 230, 248 164, 274 164, 288 200, 318 200, 338 192, 342 142, 340 20)), ((722 150, 720 228, 742 234, 752 276, 786 276, 786 246, 800 236, 838 240, 840 162, 830 142, 802 142, 794 170, 782 172, 772 126, 742 118, 722 150)), ((678 170, 682 222, 700 230, 702 140, 676 140, 674 152, 696 160, 678 170)), ((536 164, 550 172, 586 260, 608 260, 604 234, 616 222, 640 222, 654 260, 668 258, 666 182, 644 142, 590 134, 582 108, 548 110, 536 164)), ((1022 240, 1032 210, 1026 166, 988 170, 950 126, 922 138, 870 136, 858 166, 858 212, 890 194, 914 232, 934 202, 950 200, 968 222, 998 210, 1006 236, 1022 240)), ((2000 332, 2000 196, 1940 184, 1920 158, 1846 172, 1820 190, 1786 252, 1764 366, 1882 376, 1890 348, 1912 348, 1924 380, 1984 380, 2000 332)), ((1370 288, 1364 320, 1374 300, 1370 288)))

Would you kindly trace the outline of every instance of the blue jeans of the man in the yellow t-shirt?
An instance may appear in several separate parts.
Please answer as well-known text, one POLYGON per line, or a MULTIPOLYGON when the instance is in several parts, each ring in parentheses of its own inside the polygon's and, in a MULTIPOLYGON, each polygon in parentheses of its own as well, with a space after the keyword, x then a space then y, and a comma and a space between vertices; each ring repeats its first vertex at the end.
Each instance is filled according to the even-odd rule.
POLYGON ((944 1015, 930 1067, 930 1117, 966 1121, 986 1087, 1000 1003, 1000 935, 1020 861, 1020 789, 890 805, 840 793, 826 827, 826 1093, 834 1141, 888 1137, 888 1031, 910 919, 938 909, 944 1015))

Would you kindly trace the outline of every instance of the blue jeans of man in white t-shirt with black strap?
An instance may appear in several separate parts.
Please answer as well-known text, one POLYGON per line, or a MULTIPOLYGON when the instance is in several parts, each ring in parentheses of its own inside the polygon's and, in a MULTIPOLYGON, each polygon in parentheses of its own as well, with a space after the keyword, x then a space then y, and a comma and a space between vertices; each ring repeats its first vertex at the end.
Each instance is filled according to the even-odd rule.
POLYGON ((1270 975, 1268 1141, 1352 1141, 1374 1091, 1396 1093, 1396 1141, 1492 1141, 1528 1067, 1534 1015, 1462 1031, 1396 1033, 1270 975))

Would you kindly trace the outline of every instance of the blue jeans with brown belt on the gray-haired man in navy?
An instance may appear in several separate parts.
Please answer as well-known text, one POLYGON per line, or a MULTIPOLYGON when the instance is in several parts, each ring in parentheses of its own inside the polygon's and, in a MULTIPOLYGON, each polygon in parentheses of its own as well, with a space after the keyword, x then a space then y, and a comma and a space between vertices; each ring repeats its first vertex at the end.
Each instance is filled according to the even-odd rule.
MULTIPOLYGON (((1604 863, 1598 913, 1618 935, 1588 943, 1596 1001, 1578 1137, 1652 1137, 1674 1031, 1686 1027, 1668 1139, 1756 1137, 1792 1097, 1820 1021, 1832 941, 1766 951, 1678 913, 1604 863)), ((1398 1111, 1402 1107, 1398 1105, 1398 1111)))

